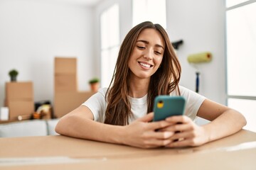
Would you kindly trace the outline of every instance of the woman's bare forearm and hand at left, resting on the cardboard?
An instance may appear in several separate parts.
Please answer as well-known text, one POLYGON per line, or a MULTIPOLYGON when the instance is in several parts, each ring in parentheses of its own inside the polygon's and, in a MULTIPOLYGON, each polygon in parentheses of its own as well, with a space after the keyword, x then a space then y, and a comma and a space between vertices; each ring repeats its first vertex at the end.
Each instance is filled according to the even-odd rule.
POLYGON ((153 113, 125 126, 98 123, 89 117, 83 113, 70 113, 59 120, 55 130, 60 135, 142 148, 163 147, 170 142, 169 137, 173 134, 156 132, 170 123, 165 120, 151 123, 153 113))

